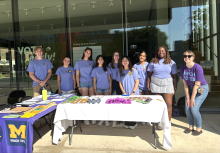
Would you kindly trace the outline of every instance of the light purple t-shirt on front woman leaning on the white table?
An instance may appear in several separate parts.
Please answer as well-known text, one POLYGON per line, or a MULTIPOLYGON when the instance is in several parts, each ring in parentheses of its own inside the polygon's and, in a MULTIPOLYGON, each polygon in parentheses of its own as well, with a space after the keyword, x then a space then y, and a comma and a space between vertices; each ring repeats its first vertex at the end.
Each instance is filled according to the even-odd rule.
MULTIPOLYGON (((132 72, 130 70, 124 70, 122 72, 122 76, 118 75, 117 81, 121 82, 125 92, 130 95, 134 89, 135 80, 139 79, 140 76, 138 71, 135 68, 132 68, 132 72)), ((139 88, 137 88, 135 95, 139 95, 139 88)))

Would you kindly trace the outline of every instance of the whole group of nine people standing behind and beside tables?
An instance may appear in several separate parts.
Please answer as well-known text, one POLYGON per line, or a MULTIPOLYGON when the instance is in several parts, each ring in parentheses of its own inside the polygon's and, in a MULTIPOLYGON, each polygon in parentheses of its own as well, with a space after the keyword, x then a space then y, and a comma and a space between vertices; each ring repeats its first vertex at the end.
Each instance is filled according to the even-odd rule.
MULTIPOLYGON (((27 71, 33 80, 34 97, 41 94, 45 87, 51 90, 50 77, 53 65, 42 57, 43 48, 34 49, 36 59, 32 60, 27 71)), ((186 65, 180 69, 184 83, 186 97, 186 115, 189 128, 185 133, 193 135, 202 133, 202 120, 199 108, 208 95, 208 84, 204 79, 202 67, 194 63, 195 54, 186 51, 183 54, 186 65), (194 130, 194 121, 196 130, 194 130)), ((92 60, 92 49, 86 48, 82 59, 77 61, 74 68, 69 66, 70 58, 63 59, 63 66, 56 71, 58 92, 61 94, 75 93, 78 88, 82 96, 92 95, 161 95, 167 104, 168 116, 171 125, 172 99, 177 90, 177 67, 171 59, 166 47, 161 46, 155 52, 155 57, 147 62, 147 53, 142 51, 139 62, 132 65, 128 56, 120 57, 119 52, 114 52, 112 61, 106 65, 102 55, 92 60)), ((108 121, 100 121, 98 125, 108 121)), ((89 125, 89 121, 84 121, 89 125)), ((95 124, 96 121, 92 121, 95 124)), ((116 121, 112 126, 116 127, 116 121)), ((145 123, 143 123, 145 124, 145 123)), ((147 123, 148 125, 150 123, 147 123)), ((125 122, 125 128, 135 129, 136 122, 125 122)), ((158 129, 161 127, 158 125, 158 129)))

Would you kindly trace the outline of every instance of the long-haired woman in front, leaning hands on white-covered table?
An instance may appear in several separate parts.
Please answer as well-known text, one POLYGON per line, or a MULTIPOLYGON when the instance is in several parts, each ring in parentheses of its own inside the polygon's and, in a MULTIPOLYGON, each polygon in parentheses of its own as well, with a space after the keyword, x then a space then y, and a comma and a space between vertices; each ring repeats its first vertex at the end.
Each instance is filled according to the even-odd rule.
MULTIPOLYGON (((138 71, 132 68, 131 60, 128 56, 122 58, 120 75, 118 75, 119 86, 123 95, 140 95, 138 71)), ((125 128, 135 129, 136 122, 125 122, 125 128)))

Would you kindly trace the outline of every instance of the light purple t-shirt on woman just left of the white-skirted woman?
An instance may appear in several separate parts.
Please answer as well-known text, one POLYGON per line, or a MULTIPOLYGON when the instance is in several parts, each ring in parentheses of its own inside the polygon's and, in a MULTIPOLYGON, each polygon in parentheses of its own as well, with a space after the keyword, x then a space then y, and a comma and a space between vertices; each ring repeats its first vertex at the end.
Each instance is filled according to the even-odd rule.
POLYGON ((137 69, 138 74, 140 76, 140 79, 139 79, 139 89, 147 91, 147 68, 148 68, 148 62, 145 62, 144 65, 141 65, 140 63, 136 63, 134 65, 134 68, 137 69))

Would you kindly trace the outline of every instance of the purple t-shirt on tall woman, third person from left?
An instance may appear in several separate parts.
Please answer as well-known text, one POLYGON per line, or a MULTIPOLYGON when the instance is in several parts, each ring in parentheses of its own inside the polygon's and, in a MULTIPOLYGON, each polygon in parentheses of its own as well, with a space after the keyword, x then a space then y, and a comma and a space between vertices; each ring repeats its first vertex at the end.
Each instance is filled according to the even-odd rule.
POLYGON ((76 62, 74 69, 79 71, 80 82, 88 83, 92 81, 91 72, 95 67, 93 61, 79 60, 76 62))

